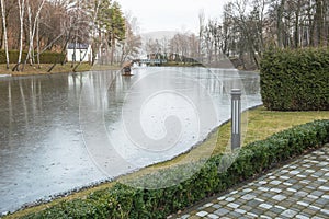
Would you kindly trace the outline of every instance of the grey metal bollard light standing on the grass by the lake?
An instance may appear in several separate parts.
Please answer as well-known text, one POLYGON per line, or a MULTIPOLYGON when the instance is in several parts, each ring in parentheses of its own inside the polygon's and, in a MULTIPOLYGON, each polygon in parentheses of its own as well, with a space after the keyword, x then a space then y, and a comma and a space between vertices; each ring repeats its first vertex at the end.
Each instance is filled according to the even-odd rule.
POLYGON ((231 151, 241 145, 241 90, 232 89, 231 92, 231 151))

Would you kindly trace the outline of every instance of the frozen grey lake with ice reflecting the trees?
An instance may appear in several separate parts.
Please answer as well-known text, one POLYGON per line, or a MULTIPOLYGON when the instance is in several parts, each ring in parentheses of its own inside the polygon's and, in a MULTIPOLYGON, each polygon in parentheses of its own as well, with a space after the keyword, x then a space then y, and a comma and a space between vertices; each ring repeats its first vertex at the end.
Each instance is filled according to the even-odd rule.
POLYGON ((259 74, 161 68, 0 78, 0 215, 171 159, 242 108, 259 74))

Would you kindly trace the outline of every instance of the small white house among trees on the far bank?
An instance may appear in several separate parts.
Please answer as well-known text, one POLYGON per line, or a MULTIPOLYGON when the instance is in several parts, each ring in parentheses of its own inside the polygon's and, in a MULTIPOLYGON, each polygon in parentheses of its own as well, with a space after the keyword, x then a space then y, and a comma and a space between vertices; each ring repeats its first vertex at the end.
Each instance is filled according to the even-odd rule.
POLYGON ((92 50, 89 44, 68 44, 67 61, 91 61, 92 50))

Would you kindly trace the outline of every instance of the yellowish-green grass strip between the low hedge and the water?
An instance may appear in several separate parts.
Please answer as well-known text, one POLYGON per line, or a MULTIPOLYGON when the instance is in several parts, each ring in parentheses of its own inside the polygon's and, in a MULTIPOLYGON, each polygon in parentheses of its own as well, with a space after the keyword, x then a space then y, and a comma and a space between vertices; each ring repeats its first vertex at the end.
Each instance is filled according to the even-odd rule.
MULTIPOLYGON (((252 141, 264 139, 272 134, 277 131, 291 128, 296 125, 305 124, 308 122, 313 122, 316 119, 329 119, 329 111, 322 112, 272 112, 266 111, 263 106, 250 110, 243 113, 245 122, 248 120, 247 131, 245 134, 243 145, 247 145, 252 141)), ((246 126, 245 126, 246 129, 246 126)), ((154 171, 158 171, 159 169, 171 168, 174 165, 179 165, 182 162, 191 162, 192 160, 197 160, 200 158, 208 158, 209 154, 215 154, 218 152, 226 151, 227 146, 229 145, 229 136, 230 136, 230 123, 226 123, 222 125, 216 131, 214 131, 207 140, 205 140, 200 146, 192 149, 190 152, 179 155, 173 160, 162 162, 159 164, 155 164, 152 166, 145 168, 136 173, 133 173, 128 176, 124 176, 118 178, 118 181, 125 181, 128 178, 138 177, 144 174, 149 174, 154 171)), ((78 193, 75 193, 68 197, 58 198, 52 203, 43 204, 41 206, 27 208, 21 211, 18 211, 13 215, 10 215, 5 218, 18 218, 20 216, 26 215, 29 212, 35 212, 48 206, 58 204, 61 200, 73 199, 73 198, 83 198, 88 194, 102 189, 105 187, 110 187, 113 183, 104 183, 99 186, 88 188, 78 193)))

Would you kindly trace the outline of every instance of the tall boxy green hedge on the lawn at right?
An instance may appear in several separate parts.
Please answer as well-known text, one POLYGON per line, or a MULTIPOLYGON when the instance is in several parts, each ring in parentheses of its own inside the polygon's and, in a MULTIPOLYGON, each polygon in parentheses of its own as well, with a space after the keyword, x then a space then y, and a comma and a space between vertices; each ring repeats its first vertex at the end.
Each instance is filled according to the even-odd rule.
POLYGON ((268 110, 329 110, 329 49, 270 49, 260 66, 268 110))

